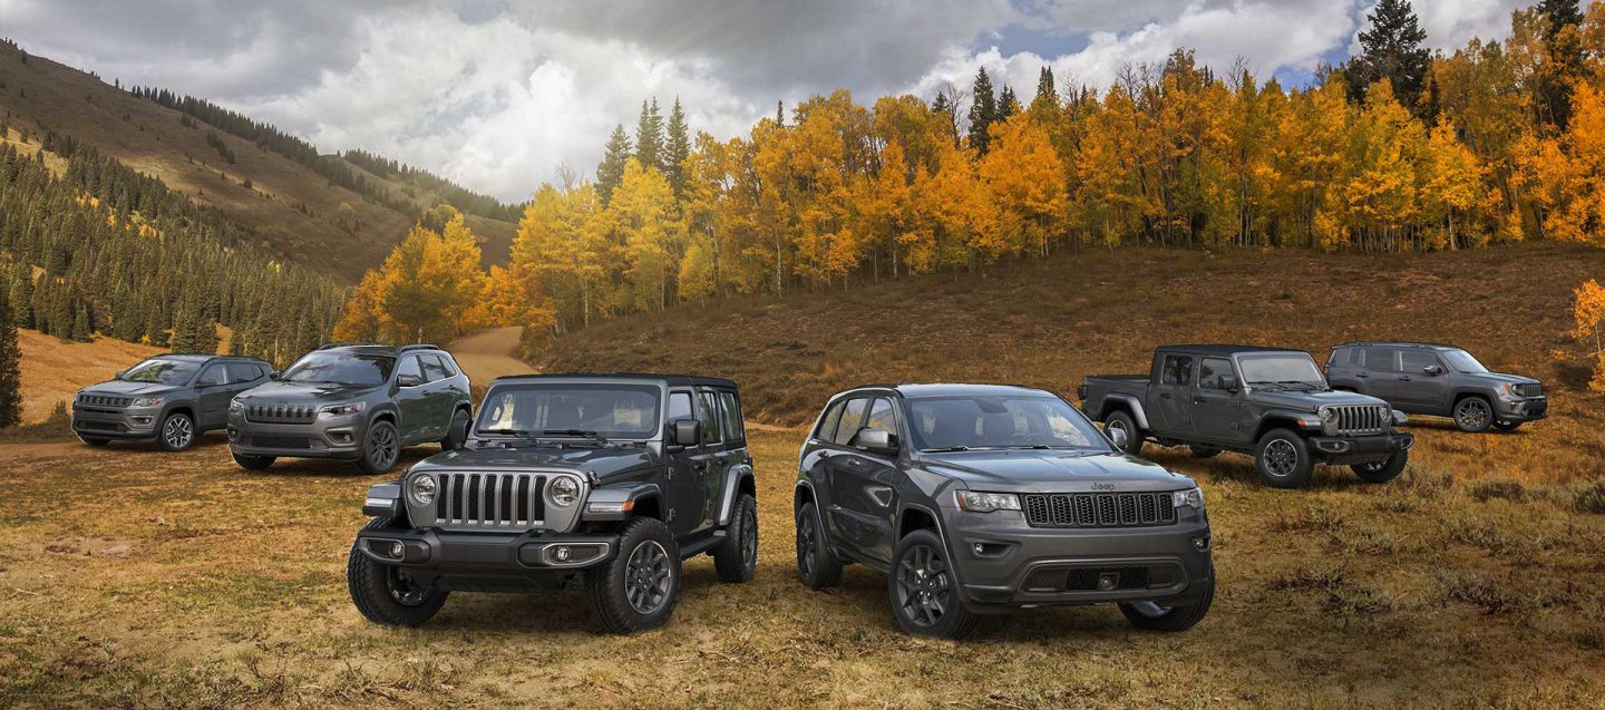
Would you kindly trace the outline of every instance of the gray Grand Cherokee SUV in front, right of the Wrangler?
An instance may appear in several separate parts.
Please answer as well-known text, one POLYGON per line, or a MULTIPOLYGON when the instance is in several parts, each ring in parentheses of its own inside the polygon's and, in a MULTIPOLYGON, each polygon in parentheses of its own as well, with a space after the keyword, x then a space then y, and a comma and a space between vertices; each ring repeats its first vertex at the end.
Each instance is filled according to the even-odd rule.
POLYGON ((886 572, 908 633, 961 638, 979 614, 1109 602, 1138 628, 1181 631, 1215 598, 1197 485, 1037 389, 836 395, 802 443, 794 511, 798 578, 886 572))

